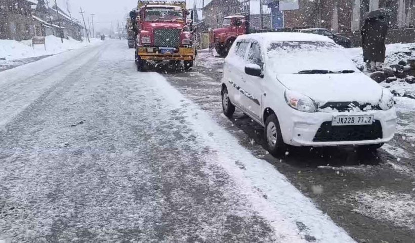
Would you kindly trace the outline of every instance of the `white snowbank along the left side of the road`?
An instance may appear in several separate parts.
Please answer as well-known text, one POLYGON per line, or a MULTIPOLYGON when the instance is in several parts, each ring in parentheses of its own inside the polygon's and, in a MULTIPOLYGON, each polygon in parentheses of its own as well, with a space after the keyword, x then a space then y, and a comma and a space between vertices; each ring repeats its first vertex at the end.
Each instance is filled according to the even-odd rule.
POLYGON ((78 49, 81 47, 94 45, 100 43, 98 39, 91 39, 91 43, 88 41, 79 42, 75 39, 63 39, 63 44, 61 43, 61 39, 49 35, 46 36, 46 51, 44 45, 35 45, 34 48, 32 47, 32 41, 13 41, 10 39, 0 39, 0 59, 7 60, 16 60, 28 57, 38 57, 44 55, 53 55, 65 51, 69 51, 72 49, 78 49))

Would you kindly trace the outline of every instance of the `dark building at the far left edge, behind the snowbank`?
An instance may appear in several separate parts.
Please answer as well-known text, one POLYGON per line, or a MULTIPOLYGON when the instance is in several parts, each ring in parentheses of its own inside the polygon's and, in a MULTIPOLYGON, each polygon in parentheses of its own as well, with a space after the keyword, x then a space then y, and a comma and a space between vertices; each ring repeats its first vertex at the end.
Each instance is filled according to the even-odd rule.
POLYGON ((30 39, 34 35, 33 1, 0 0, 0 39, 30 39))

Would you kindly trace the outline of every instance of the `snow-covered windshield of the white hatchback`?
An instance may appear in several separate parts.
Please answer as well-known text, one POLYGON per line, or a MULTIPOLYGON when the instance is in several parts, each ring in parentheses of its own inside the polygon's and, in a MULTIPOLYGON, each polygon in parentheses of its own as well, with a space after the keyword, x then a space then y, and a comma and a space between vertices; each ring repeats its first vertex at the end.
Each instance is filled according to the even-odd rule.
POLYGON ((270 70, 298 73, 305 70, 358 71, 343 49, 329 42, 278 42, 267 50, 270 70))

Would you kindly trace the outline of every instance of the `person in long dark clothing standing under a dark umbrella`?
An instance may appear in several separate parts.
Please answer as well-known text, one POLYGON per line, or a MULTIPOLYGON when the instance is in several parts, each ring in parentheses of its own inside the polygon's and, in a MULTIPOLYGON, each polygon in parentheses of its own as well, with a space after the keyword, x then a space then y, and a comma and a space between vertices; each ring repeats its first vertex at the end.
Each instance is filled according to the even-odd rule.
POLYGON ((366 14, 362 27, 363 61, 370 71, 385 62, 385 38, 388 33, 389 9, 377 9, 366 14))

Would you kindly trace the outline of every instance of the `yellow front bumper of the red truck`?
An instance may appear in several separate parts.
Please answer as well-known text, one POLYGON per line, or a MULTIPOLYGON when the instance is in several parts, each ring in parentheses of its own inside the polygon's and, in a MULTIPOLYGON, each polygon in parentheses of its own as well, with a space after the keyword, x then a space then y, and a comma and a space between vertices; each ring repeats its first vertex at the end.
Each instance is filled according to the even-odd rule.
POLYGON ((196 57, 195 48, 178 48, 178 52, 174 53, 160 53, 157 48, 140 47, 138 48, 138 55, 143 60, 185 60, 191 61, 196 57))

